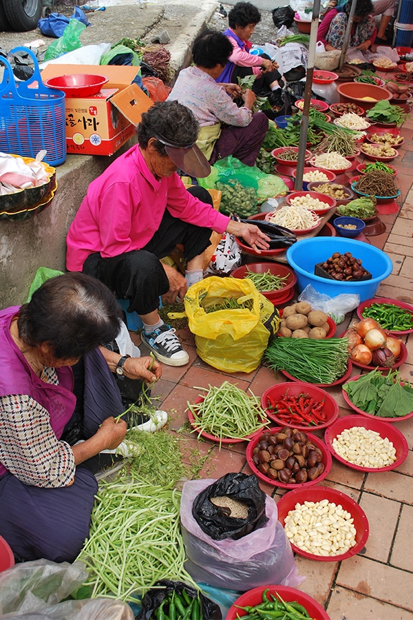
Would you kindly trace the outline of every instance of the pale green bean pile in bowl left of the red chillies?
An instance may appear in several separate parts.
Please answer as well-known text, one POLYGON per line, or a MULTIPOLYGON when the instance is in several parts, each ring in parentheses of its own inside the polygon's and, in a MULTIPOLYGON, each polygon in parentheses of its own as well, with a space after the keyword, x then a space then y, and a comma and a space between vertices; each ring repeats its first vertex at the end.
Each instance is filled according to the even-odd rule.
POLYGON ((198 437, 201 433, 208 433, 218 437, 221 446, 223 439, 244 439, 266 422, 260 398, 252 393, 248 396, 228 381, 220 387, 209 385, 208 390, 200 389, 204 390, 202 402, 187 403, 199 429, 198 437))

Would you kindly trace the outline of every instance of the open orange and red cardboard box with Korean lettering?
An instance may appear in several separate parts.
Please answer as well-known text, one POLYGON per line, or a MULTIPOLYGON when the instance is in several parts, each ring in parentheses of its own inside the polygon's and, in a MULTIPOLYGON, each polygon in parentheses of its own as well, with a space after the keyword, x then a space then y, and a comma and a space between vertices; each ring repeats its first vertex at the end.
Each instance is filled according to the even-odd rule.
POLYGON ((135 133, 142 112, 153 102, 134 80, 137 67, 118 65, 47 65, 43 82, 64 74, 104 75, 109 81, 98 94, 66 97, 67 152, 113 155, 135 133))

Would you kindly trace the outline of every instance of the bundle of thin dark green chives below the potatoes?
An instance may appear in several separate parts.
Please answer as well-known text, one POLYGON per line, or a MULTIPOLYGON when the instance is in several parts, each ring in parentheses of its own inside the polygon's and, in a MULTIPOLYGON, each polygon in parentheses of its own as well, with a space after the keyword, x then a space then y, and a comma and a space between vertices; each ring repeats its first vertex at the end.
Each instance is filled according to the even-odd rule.
POLYGON ((330 384, 346 372, 347 347, 347 338, 275 338, 265 357, 275 371, 285 370, 299 381, 330 384))

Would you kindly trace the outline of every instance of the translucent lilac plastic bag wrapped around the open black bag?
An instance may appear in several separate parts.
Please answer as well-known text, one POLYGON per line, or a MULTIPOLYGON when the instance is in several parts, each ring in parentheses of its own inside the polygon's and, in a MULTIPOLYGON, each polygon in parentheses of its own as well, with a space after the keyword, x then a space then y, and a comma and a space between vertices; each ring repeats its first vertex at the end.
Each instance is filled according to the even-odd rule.
POLYGON ((264 527, 233 540, 213 540, 192 516, 195 497, 213 479, 190 480, 182 488, 180 519, 187 561, 185 569, 195 581, 230 590, 251 590, 266 583, 297 587, 299 577, 290 541, 278 521, 277 504, 266 497, 264 527))

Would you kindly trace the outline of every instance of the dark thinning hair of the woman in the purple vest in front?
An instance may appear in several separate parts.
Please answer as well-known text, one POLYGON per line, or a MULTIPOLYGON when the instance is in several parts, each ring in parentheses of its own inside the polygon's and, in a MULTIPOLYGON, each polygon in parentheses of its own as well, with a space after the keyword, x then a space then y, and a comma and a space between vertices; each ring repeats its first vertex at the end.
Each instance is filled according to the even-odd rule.
POLYGON ((112 342, 121 310, 113 293, 85 273, 50 278, 20 309, 19 336, 30 347, 47 342, 55 358, 69 360, 112 342))

